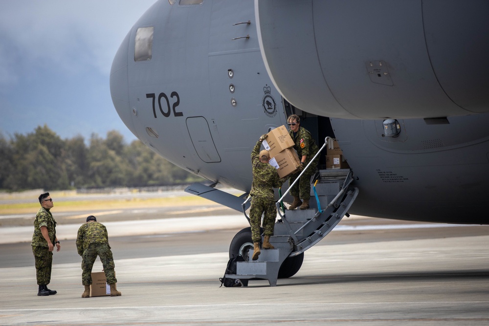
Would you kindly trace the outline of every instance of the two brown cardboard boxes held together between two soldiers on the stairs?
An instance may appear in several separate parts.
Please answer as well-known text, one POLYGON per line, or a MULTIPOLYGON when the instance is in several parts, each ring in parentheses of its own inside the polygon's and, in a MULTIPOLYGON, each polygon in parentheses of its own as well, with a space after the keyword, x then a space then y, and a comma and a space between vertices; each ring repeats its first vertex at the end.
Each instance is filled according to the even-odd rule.
POLYGON ((293 174, 301 163, 297 152, 292 148, 294 145, 285 126, 268 132, 267 138, 263 141, 263 146, 270 153, 270 164, 277 169, 281 178, 293 174))

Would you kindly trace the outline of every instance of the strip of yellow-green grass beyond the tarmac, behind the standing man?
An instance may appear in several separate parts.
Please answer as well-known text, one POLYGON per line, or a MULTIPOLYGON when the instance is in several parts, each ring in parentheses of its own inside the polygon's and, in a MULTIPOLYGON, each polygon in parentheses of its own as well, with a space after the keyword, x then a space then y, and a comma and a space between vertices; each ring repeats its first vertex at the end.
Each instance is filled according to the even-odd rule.
MULTIPOLYGON (((53 212, 71 212, 90 207, 90 209, 129 209, 142 207, 165 207, 165 206, 199 206, 219 205, 199 196, 181 196, 168 198, 149 199, 121 199, 121 200, 73 200, 54 201, 53 212)), ((39 203, 22 204, 0 204, 1 215, 29 214, 35 215, 41 206, 39 203)))

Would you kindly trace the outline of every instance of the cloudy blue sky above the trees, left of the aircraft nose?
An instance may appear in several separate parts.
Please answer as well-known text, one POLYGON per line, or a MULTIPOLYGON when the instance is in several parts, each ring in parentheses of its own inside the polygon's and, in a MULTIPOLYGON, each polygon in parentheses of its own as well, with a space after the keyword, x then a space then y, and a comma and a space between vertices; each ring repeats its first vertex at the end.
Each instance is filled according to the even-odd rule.
POLYGON ((46 124, 62 138, 118 130, 109 74, 115 52, 156 0, 1 0, 0 132, 46 124))

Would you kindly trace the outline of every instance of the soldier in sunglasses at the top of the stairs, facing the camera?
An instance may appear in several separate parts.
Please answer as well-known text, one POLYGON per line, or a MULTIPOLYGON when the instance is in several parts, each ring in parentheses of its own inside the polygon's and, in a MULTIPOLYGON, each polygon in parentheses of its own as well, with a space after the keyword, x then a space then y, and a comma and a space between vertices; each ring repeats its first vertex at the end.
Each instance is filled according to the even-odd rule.
MULTIPOLYGON (((314 139, 312 139, 311 132, 309 130, 300 126, 301 119, 296 114, 291 114, 287 118, 288 125, 290 128, 289 134, 294 141, 294 149, 297 151, 297 155, 301 160, 301 166, 305 167, 311 162, 311 159, 319 151, 314 139)), ((319 156, 314 159, 309 168, 302 174, 299 182, 296 182, 294 186, 290 189, 290 195, 294 196, 294 201, 289 206, 289 209, 295 209, 300 206, 300 209, 309 208, 309 198, 311 197, 311 176, 316 172, 317 163, 319 161, 319 156), (304 202, 301 201, 302 198, 304 202)), ((295 179, 299 176, 302 169, 298 172, 292 174, 289 180, 289 186, 295 179)))

